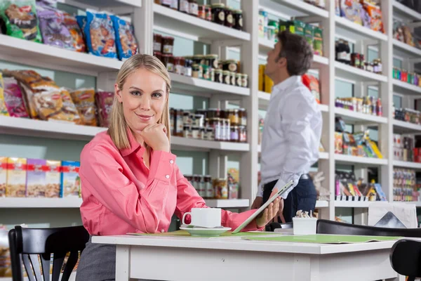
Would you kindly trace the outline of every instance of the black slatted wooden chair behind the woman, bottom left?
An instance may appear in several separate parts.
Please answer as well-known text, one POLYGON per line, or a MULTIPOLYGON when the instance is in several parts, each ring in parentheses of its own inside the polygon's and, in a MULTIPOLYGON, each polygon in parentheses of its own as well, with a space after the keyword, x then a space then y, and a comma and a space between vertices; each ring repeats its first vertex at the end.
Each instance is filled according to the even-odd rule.
POLYGON ((58 281, 65 256, 69 254, 61 280, 69 280, 78 260, 79 251, 85 249, 89 233, 83 226, 67 228, 22 228, 15 226, 8 233, 13 281, 22 281, 22 261, 29 281, 50 280, 50 259, 53 254, 52 280, 58 281), (41 259, 41 266, 39 264, 41 259), (41 277, 41 267, 44 278, 41 277), (36 277, 36 279, 35 279, 36 277))

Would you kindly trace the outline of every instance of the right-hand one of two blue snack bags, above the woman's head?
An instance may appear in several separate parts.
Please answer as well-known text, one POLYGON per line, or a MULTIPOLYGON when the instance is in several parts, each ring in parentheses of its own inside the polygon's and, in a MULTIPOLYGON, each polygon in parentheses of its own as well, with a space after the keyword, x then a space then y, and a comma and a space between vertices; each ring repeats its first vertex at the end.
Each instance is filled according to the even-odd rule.
POLYGON ((116 32, 116 46, 120 60, 126 60, 138 53, 138 43, 131 22, 111 15, 112 25, 116 32))

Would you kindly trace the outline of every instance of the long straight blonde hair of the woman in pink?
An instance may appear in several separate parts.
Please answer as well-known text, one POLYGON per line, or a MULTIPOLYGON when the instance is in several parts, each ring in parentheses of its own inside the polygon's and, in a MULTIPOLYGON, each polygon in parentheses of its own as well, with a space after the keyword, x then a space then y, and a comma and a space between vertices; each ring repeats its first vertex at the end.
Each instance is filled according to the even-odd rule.
MULTIPOLYGON (((119 90, 123 91, 123 85, 126 83, 127 77, 133 74, 136 70, 140 70, 142 68, 158 74, 166 82, 166 104, 164 105, 163 112, 158 123, 166 126, 168 141, 171 141, 170 111, 168 108, 171 79, 163 63, 152 55, 133 55, 121 66, 119 74, 117 74, 116 84, 119 90)), ((123 114, 123 104, 119 103, 119 100, 115 96, 112 105, 111 117, 109 119, 108 133, 116 147, 119 149, 130 148, 127 129, 128 125, 123 114)))

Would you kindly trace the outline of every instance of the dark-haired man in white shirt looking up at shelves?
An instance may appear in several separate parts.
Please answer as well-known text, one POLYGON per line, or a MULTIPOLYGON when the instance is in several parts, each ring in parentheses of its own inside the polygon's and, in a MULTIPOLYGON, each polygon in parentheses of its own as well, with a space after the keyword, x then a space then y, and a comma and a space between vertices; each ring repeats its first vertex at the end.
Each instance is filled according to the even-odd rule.
POLYGON ((314 96, 301 81, 312 58, 305 38, 290 32, 280 32, 278 43, 267 53, 265 73, 274 86, 262 136, 262 181, 252 208, 264 204, 274 188, 293 180, 279 203, 283 223, 292 221, 298 210, 316 207, 316 189, 307 173, 319 159, 322 119, 314 96))

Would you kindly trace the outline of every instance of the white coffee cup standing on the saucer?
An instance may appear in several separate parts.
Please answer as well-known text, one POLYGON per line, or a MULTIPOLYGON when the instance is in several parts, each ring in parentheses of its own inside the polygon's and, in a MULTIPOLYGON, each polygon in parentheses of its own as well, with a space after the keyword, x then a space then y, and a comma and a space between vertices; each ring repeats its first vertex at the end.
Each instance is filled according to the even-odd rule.
POLYGON ((192 217, 192 222, 189 226, 201 226, 203 228, 221 226, 220 208, 192 208, 192 211, 189 211, 182 216, 182 224, 187 225, 187 223, 185 223, 187 214, 192 217))

